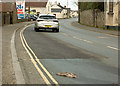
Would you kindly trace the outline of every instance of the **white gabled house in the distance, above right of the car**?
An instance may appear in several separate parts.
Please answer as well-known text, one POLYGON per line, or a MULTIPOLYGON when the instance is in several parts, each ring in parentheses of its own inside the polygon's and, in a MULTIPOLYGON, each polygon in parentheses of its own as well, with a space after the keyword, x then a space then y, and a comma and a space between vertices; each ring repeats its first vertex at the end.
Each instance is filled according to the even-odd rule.
POLYGON ((51 2, 47 4, 46 13, 56 15, 56 18, 70 18, 70 8, 61 6, 57 1, 52 5, 51 2))

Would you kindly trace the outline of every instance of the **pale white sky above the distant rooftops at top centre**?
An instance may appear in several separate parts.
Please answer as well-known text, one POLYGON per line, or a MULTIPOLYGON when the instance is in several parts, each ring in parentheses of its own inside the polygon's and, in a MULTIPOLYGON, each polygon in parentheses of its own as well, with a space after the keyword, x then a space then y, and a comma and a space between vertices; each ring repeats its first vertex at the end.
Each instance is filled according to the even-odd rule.
MULTIPOLYGON (((60 3, 62 6, 67 6, 67 0, 49 0, 54 4, 55 1, 57 3, 60 3)), ((68 8, 71 8, 71 10, 78 10, 77 5, 74 4, 74 2, 77 2, 78 0, 68 0, 68 8)))

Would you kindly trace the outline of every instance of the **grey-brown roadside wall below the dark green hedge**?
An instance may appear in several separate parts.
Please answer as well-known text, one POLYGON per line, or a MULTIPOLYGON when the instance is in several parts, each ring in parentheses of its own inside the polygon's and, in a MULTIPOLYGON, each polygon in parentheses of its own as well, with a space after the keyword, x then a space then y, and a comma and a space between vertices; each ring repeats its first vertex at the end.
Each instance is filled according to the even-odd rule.
POLYGON ((94 27, 104 27, 104 12, 98 9, 80 12, 80 23, 94 27))

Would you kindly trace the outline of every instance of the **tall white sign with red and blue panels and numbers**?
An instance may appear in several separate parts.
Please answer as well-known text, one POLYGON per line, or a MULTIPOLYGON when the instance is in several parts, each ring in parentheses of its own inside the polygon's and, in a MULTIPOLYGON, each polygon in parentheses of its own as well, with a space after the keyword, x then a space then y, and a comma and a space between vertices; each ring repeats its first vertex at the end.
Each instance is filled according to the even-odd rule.
POLYGON ((24 19, 25 16, 25 0, 16 0, 18 19, 24 19))

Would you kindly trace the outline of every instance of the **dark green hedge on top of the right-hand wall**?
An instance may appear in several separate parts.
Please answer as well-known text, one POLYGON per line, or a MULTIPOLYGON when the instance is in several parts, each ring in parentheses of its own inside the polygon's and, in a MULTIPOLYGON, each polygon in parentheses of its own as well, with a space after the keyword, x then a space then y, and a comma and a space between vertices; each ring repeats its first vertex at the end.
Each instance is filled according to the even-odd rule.
POLYGON ((81 11, 89 9, 104 11, 104 2, 79 2, 79 9, 81 9, 81 11))

